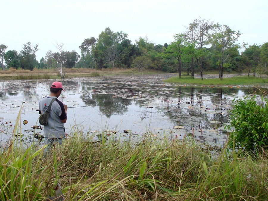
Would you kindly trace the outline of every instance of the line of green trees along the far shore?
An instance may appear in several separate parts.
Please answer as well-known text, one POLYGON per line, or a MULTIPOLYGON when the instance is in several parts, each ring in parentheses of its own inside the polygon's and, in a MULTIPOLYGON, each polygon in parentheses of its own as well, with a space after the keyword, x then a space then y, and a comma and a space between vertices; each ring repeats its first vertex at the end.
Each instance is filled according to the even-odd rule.
POLYGON ((219 72, 222 79, 223 70, 242 71, 248 75, 253 72, 266 72, 268 61, 268 43, 262 45, 247 43, 238 44, 241 32, 232 30, 227 25, 197 18, 184 32, 175 34, 174 40, 167 44, 154 44, 148 38, 127 39, 127 33, 114 32, 109 27, 99 34, 98 38, 86 38, 79 46, 81 55, 76 51, 63 51, 63 43, 57 43, 58 52, 48 51, 40 62, 36 60, 38 44, 24 44, 21 52, 10 50, 0 45, 1 66, 4 68, 50 68, 60 71, 63 68, 138 68, 155 69, 167 72, 182 71, 194 77, 194 73, 203 78, 203 71, 219 72), (240 53, 240 50, 244 51, 240 53), (4 65, 4 61, 5 64, 4 65))

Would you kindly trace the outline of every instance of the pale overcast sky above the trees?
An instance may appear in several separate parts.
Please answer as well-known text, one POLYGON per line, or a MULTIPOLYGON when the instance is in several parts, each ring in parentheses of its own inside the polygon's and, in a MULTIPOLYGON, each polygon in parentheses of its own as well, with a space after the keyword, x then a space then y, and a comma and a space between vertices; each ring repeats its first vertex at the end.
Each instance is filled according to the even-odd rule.
POLYGON ((1 0, 0 44, 20 52, 27 42, 39 44, 37 60, 46 52, 75 50, 85 38, 106 27, 128 34, 135 43, 147 37, 155 44, 170 43, 196 18, 239 30, 249 45, 268 42, 267 0, 1 0))

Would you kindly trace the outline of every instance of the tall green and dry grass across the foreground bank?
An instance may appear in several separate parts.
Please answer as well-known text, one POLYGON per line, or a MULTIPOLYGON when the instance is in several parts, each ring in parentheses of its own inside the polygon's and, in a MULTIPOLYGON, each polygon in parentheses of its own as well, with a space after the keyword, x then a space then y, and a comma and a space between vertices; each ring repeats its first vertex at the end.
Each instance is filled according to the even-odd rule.
POLYGON ((241 157, 149 133, 138 145, 105 135, 93 142, 73 133, 44 156, 13 140, 1 153, 0 200, 41 200, 56 183, 66 200, 267 200, 267 153, 241 157))

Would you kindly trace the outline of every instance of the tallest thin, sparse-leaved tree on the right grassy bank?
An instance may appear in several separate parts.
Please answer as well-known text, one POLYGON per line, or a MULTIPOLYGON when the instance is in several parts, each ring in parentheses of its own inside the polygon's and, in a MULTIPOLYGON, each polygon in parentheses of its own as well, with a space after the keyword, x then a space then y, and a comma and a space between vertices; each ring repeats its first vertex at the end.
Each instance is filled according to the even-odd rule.
POLYGON ((200 66, 201 79, 203 79, 203 59, 206 54, 204 46, 209 44, 209 38, 211 31, 213 30, 213 22, 210 22, 209 20, 205 21, 205 19, 201 20, 198 18, 190 23, 187 29, 193 34, 195 38, 194 43, 197 47, 197 51, 194 55, 197 63, 200 66))

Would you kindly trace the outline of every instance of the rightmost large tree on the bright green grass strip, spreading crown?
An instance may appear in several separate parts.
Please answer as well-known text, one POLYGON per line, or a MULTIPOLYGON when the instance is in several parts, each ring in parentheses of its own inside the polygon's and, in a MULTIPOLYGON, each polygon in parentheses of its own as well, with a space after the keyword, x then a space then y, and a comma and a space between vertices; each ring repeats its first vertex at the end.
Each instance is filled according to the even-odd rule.
POLYGON ((230 55, 230 50, 233 47, 238 47, 235 44, 241 33, 235 32, 227 25, 221 25, 217 23, 215 25, 216 32, 211 35, 211 44, 214 46, 215 54, 218 59, 217 64, 219 65, 219 78, 222 80, 223 65, 227 63, 230 55))

